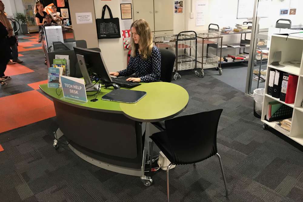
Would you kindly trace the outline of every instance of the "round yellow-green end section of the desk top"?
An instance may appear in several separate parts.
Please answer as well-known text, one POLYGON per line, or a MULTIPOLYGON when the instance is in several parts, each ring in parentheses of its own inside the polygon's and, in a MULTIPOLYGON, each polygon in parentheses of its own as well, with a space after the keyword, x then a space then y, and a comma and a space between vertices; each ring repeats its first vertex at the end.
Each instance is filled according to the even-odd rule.
POLYGON ((146 91, 144 98, 134 104, 120 103, 123 113, 142 122, 162 121, 182 112, 188 104, 188 93, 179 85, 154 82, 137 86, 135 90, 146 91))

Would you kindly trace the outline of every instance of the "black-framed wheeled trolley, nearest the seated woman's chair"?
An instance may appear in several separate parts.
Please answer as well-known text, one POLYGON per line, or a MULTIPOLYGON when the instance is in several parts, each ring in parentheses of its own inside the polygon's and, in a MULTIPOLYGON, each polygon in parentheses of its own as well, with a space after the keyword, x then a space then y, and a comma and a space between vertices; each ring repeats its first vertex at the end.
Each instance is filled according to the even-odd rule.
POLYGON ((181 31, 175 35, 175 39, 176 61, 174 80, 181 78, 181 75, 178 73, 180 70, 194 69, 195 76, 199 76, 197 71, 197 33, 195 31, 181 31), (191 54, 191 48, 195 48, 195 55, 191 54), (179 53, 181 49, 184 49, 184 53, 179 53))

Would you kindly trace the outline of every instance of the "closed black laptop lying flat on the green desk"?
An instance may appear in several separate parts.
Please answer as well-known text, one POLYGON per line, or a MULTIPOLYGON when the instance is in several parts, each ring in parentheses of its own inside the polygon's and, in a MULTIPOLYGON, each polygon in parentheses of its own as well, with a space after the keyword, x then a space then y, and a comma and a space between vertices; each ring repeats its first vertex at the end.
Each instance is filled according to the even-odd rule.
POLYGON ((146 95, 144 91, 133 91, 126 89, 115 89, 102 96, 102 100, 136 103, 146 95))

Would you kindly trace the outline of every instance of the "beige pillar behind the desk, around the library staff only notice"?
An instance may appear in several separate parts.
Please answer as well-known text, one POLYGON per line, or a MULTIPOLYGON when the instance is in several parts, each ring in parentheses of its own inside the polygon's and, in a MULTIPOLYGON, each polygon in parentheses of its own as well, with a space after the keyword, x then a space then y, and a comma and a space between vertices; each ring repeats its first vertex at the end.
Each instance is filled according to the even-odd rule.
POLYGON ((69 9, 71 13, 72 26, 76 40, 85 40, 88 48, 98 48, 97 28, 95 23, 95 8, 93 0, 72 0, 69 1, 69 9), (93 23, 77 24, 75 13, 92 12, 93 23))

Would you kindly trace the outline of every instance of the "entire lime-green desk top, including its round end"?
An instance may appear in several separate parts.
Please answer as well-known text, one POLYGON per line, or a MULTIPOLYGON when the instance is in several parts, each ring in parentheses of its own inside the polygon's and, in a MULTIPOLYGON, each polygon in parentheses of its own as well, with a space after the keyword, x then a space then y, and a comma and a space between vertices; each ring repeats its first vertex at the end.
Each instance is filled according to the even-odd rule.
MULTIPOLYGON (((97 94, 98 101, 91 102, 95 96, 88 96, 88 102, 81 104, 76 101, 65 100, 61 88, 48 88, 47 84, 39 86, 40 89, 53 99, 61 102, 86 108, 89 110, 106 111, 113 113, 123 113, 125 116, 142 122, 162 121, 182 112, 188 104, 188 93, 179 85, 167 82, 142 83, 131 90, 145 91, 146 96, 134 104, 120 103, 102 100, 102 96, 112 91, 113 88, 101 88, 101 93, 97 94)), ((88 92, 87 94, 94 94, 88 92)))

